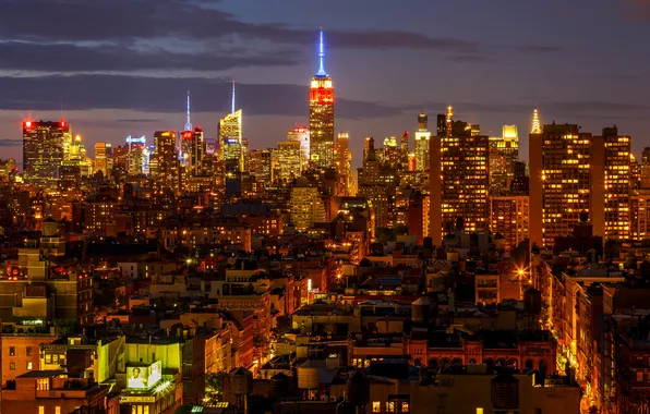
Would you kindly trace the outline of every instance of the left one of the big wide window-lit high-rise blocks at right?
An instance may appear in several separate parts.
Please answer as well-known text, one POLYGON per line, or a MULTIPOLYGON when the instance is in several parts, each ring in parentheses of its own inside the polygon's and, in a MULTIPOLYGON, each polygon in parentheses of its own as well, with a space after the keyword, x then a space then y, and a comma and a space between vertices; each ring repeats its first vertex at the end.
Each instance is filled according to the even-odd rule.
POLYGON ((445 126, 446 135, 432 141, 430 155, 431 236, 436 245, 443 229, 452 232, 462 224, 467 232, 486 231, 490 217, 489 137, 476 135, 478 129, 467 122, 454 122, 450 107, 445 126))

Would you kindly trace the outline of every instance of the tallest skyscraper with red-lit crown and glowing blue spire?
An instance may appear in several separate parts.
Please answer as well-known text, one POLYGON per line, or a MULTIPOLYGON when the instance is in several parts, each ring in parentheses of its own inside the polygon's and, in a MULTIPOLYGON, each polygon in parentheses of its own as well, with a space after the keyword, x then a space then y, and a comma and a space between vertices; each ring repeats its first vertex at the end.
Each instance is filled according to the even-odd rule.
POLYGON ((334 166, 334 86, 325 72, 323 31, 318 44, 318 71, 310 85, 310 156, 321 170, 334 166))

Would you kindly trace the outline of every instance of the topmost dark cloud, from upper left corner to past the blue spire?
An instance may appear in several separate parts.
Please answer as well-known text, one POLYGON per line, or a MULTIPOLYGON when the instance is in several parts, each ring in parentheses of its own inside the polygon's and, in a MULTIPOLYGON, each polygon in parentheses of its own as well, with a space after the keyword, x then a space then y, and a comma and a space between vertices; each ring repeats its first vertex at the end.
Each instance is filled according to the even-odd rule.
MULTIPOLYGON (((248 23, 202 2, 183 0, 4 0, 0 13, 0 38, 5 39, 132 44, 136 39, 205 40, 233 36, 313 45, 315 31, 286 24, 248 23)), ((478 47, 473 41, 430 38, 401 31, 329 31, 327 41, 340 48, 471 51, 478 47)))

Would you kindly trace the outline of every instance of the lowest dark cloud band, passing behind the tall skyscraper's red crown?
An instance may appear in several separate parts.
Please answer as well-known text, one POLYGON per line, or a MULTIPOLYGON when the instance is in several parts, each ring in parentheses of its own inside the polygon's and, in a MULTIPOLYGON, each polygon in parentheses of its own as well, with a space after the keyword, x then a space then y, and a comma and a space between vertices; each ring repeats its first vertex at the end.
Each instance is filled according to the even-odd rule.
MULTIPOLYGON (((127 75, 49 75, 0 77, 0 109, 23 111, 125 109, 144 112, 183 112, 188 90, 197 112, 230 109, 231 83, 202 77, 143 77, 127 75), (44 99, 44 97, 49 97, 44 99)), ((306 115, 309 90, 301 85, 238 84, 238 107, 256 115, 306 115)), ((364 119, 400 113, 388 105, 337 99, 339 118, 364 119)))

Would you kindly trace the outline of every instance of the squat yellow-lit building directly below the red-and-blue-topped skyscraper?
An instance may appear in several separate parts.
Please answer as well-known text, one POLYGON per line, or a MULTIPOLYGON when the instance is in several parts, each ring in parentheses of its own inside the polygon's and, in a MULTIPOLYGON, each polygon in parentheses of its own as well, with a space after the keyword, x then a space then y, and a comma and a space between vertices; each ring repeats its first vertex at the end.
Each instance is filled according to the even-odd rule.
POLYGON ((315 222, 325 221, 325 206, 318 187, 304 176, 299 178, 291 187, 290 215, 296 230, 301 232, 315 222))

